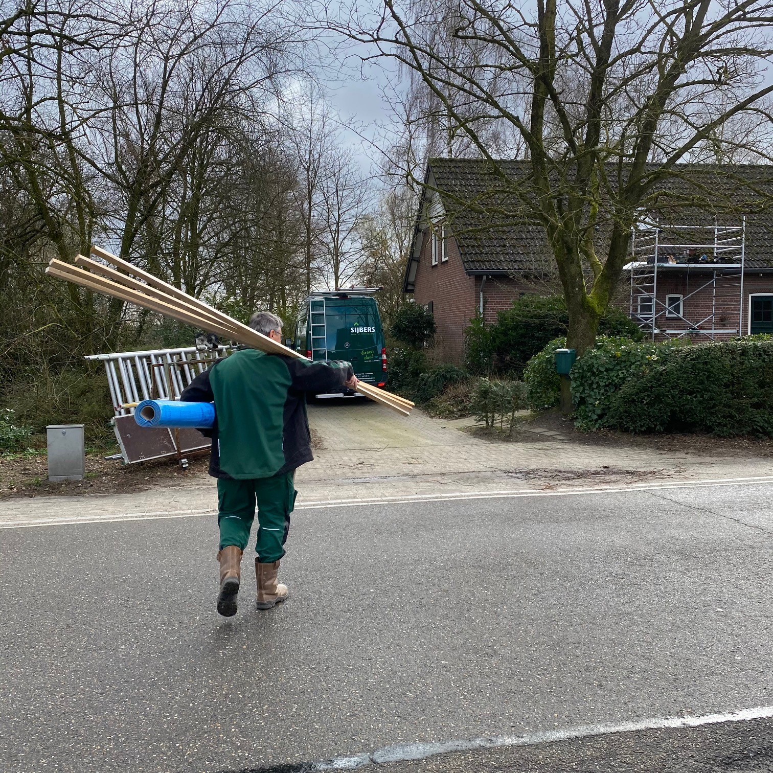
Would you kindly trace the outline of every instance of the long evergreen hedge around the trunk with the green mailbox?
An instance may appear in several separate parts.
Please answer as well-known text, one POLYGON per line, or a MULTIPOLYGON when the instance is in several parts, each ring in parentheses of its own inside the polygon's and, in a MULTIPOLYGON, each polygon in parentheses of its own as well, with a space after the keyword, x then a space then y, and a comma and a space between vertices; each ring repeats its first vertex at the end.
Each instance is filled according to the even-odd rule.
MULTIPOLYGON (((558 404, 555 339, 524 373, 530 407, 558 404)), ((601 337, 571 372, 577 427, 773 437, 773 337, 690 346, 601 337)))

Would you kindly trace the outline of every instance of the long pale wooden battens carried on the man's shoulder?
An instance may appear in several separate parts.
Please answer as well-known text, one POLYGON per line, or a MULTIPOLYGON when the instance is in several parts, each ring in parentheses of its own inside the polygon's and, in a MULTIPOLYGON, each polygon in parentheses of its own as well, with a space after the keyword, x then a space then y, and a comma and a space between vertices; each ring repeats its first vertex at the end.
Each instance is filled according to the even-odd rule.
MULTIPOLYGON (((260 349, 268 354, 284 354, 288 357, 307 359, 300 352, 282 346, 281 343, 270 339, 267 335, 237 322, 204 301, 200 301, 199 298, 192 298, 172 284, 162 281, 153 274, 149 274, 148 271, 143 271, 129 261, 124 261, 123 258, 107 252, 107 250, 91 247, 91 254, 107 261, 115 268, 93 261, 89 257, 78 255, 74 266, 54 258, 49 263, 49 267, 46 268, 46 274, 66 279, 74 284, 80 284, 87 290, 111 295, 118 300, 128 301, 152 312, 177 319, 179 322, 186 322, 189 325, 216 333, 221 339, 241 343, 253 349, 260 349), (116 269, 121 269, 121 271, 116 271, 116 269)), ((357 391, 404 416, 410 414, 410 409, 414 407, 410 400, 380 390, 372 384, 363 383, 363 381, 357 384, 357 391)))

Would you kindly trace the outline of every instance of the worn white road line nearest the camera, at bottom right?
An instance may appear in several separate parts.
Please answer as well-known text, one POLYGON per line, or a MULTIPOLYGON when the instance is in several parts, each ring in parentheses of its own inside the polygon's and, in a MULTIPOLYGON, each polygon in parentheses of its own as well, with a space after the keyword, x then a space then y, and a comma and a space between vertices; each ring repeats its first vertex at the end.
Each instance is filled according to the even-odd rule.
POLYGON ((773 717, 773 706, 761 706, 731 713, 704 714, 703 717, 657 717, 639 722, 623 724, 598 724, 570 727, 567 730, 546 730, 527 735, 467 738, 460 741, 437 741, 428 744, 400 744, 386 746, 373 752, 352 754, 349 757, 337 757, 332 760, 312 763, 312 771, 354 770, 368 764, 424 760, 436 754, 448 754, 451 751, 473 751, 498 747, 536 746, 554 741, 568 741, 572 738, 584 738, 594 735, 631 733, 637 730, 663 730, 678 727, 701 727, 707 724, 723 722, 743 722, 746 720, 768 719, 773 717))

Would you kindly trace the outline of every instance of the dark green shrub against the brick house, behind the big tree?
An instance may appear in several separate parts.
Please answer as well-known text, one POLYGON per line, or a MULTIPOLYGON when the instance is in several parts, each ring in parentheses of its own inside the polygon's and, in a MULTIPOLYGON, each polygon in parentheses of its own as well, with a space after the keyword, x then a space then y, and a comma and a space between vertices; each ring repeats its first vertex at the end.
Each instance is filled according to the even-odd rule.
MULTIPOLYGON (((569 313, 561 295, 524 295, 499 312, 486 327, 474 318, 466 331, 466 363, 473 373, 523 374, 526 363, 547 344, 566 335, 569 313)), ((599 335, 641 339, 642 332, 627 315, 608 308, 598 325, 599 335)))

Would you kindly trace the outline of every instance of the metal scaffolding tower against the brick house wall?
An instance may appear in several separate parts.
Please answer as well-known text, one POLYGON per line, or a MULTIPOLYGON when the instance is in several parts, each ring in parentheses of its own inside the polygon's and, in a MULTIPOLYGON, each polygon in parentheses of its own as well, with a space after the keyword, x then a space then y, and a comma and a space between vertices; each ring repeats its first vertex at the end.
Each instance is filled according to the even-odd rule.
POLYGON ((634 228, 632 261, 624 267, 630 273, 628 314, 653 340, 656 335, 698 335, 711 340, 717 335, 743 335, 745 243, 745 217, 740 226, 664 226, 656 222, 634 228), (659 282, 669 275, 683 278, 685 291, 659 298, 659 282), (694 288, 691 279, 697 282, 694 288), (686 301, 709 292, 710 312, 705 303, 701 308, 693 303, 695 311, 687 312, 690 304, 686 301), (732 327, 735 309, 737 327, 732 327))

